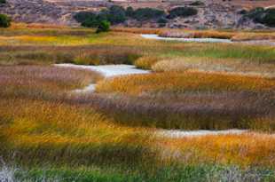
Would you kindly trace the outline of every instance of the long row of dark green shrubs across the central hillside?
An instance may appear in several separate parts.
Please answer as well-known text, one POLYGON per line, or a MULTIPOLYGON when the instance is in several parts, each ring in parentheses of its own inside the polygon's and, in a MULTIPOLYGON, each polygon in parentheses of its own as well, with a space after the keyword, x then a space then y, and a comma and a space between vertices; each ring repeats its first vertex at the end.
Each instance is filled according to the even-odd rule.
MULTIPOLYGON (((200 4, 195 2, 193 5, 200 4)), ((132 7, 124 9, 122 6, 113 5, 108 9, 104 9, 98 13, 78 12, 75 14, 75 20, 80 22, 83 27, 98 28, 101 21, 106 20, 111 25, 123 23, 125 20, 134 19, 138 21, 155 20, 160 27, 165 27, 169 19, 177 16, 192 16, 197 14, 197 10, 192 7, 177 7, 167 15, 163 10, 154 8, 138 8, 134 10, 132 7)))

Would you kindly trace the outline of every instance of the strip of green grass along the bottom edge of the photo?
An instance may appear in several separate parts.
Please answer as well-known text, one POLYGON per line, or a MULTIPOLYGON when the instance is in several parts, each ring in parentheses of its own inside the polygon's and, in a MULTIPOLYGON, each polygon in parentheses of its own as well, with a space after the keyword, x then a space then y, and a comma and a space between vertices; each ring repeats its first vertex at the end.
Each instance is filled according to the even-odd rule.
POLYGON ((275 179, 275 174, 268 169, 242 170, 235 166, 198 165, 198 166, 167 166, 153 171, 122 171, 118 169, 33 169, 15 173, 21 181, 39 181, 42 179, 59 180, 60 182, 230 182, 230 181, 266 181, 275 179))

